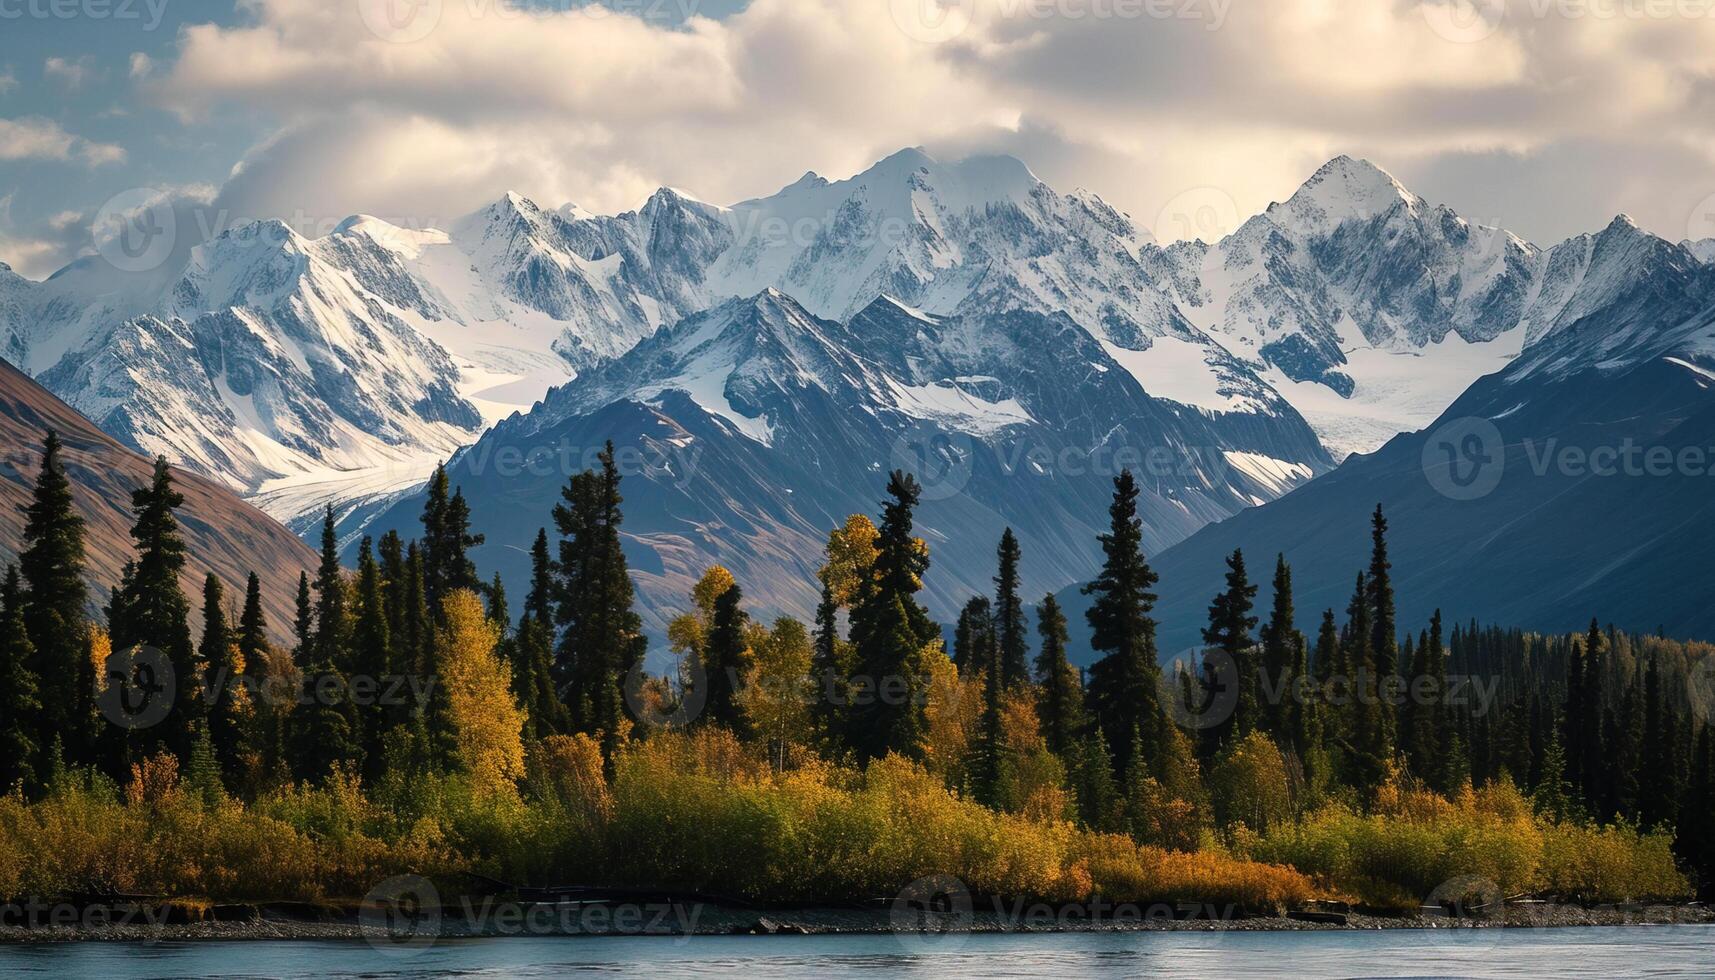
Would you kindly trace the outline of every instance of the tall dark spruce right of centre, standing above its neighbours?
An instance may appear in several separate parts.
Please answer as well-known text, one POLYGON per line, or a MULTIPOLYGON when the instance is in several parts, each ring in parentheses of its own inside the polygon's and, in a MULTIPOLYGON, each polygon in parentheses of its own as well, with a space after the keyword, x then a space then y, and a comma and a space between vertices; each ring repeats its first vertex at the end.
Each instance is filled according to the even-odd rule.
POLYGON ((1161 743, 1161 714, 1156 659, 1156 573, 1144 561, 1144 525, 1137 517, 1137 481, 1122 470, 1113 481, 1108 506, 1110 529, 1099 537, 1101 575, 1084 587, 1092 596, 1086 611, 1091 647, 1106 656, 1091 668, 1087 697, 1098 726, 1108 733, 1110 750, 1123 769, 1130 765, 1130 733, 1137 729, 1144 750, 1161 743), (1113 745, 1115 733, 1122 745, 1113 745))

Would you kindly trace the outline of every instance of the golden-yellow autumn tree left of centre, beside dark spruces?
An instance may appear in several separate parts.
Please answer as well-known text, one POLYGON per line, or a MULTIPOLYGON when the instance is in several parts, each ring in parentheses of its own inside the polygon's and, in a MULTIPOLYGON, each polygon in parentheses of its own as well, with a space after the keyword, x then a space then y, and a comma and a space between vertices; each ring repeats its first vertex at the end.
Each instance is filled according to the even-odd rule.
POLYGON ((475 592, 460 589, 441 602, 437 633, 441 690, 458 738, 458 760, 477 789, 511 791, 525 774, 525 712, 513 700, 511 671, 494 647, 496 626, 475 592))

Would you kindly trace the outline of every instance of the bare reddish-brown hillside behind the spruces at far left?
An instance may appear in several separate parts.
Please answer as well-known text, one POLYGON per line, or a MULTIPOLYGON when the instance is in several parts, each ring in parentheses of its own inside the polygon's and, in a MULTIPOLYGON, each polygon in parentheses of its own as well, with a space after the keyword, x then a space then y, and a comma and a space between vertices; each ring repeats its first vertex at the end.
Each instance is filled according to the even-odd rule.
MULTIPOLYGON (((134 554, 130 542, 130 491, 149 482, 153 462, 120 446, 45 388, 0 360, 0 563, 17 560, 24 530, 22 508, 41 467, 41 439, 55 429, 65 443, 65 469, 77 510, 87 522, 86 561, 91 611, 105 604, 108 589, 134 554)), ((300 570, 316 568, 316 554, 290 530, 245 505, 232 491, 196 474, 175 472, 185 505, 178 511, 189 546, 180 584, 185 594, 202 592, 213 572, 228 594, 242 597, 245 578, 262 580, 268 621, 278 638, 292 628, 292 597, 300 570)))

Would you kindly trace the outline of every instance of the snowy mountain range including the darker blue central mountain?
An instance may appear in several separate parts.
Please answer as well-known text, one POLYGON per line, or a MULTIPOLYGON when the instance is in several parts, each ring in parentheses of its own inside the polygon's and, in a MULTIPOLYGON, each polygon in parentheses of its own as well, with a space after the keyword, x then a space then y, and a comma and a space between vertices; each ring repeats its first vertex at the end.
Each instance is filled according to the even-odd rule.
POLYGON ((1163 247, 1017 160, 906 149, 732 206, 506 194, 446 230, 257 221, 139 273, 0 271, 0 348, 298 529, 322 505, 346 534, 413 529, 413 487, 458 451, 478 561, 508 575, 612 438, 657 625, 710 561, 760 609, 808 613, 827 529, 914 462, 948 614, 1008 523, 1027 587, 1087 577, 1115 458, 1154 460, 1146 537, 1166 549, 1374 467, 1478 379, 1547 371, 1564 336, 1652 348, 1703 302, 1712 254, 1624 220, 1540 249, 1346 156, 1218 242, 1163 247))

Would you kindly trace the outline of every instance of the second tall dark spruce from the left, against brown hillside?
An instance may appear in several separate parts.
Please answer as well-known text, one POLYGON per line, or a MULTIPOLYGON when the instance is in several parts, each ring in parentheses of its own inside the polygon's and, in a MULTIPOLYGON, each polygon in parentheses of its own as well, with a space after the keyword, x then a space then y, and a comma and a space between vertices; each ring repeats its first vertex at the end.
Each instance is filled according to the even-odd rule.
POLYGON ((177 510, 185 503, 173 489, 166 458, 156 458, 149 486, 130 494, 135 523, 130 535, 137 546, 137 565, 122 597, 123 632, 111 637, 115 650, 153 647, 173 666, 177 690, 166 721, 130 733, 141 755, 154 755, 166 747, 180 759, 190 753, 190 741, 202 721, 202 664, 190 642, 190 601, 178 585, 185 568, 185 542, 178 534, 177 510))

